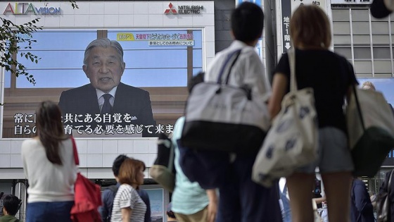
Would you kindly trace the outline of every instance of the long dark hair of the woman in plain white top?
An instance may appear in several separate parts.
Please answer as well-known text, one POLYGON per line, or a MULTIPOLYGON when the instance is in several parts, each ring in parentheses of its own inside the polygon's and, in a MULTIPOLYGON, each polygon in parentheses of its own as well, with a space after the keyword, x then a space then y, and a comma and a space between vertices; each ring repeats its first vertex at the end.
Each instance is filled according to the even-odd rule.
POLYGON ((53 101, 43 101, 36 111, 36 126, 48 160, 53 164, 62 164, 58 147, 59 142, 67 137, 64 134, 59 106, 53 101))

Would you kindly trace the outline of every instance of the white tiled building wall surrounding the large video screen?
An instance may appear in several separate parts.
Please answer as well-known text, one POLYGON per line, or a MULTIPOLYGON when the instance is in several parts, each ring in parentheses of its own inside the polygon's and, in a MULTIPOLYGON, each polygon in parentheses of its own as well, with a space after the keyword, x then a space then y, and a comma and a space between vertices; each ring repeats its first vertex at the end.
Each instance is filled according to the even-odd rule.
MULTIPOLYGON (((61 15, 46 15, 37 26, 45 29, 91 28, 91 29, 144 29, 144 28, 201 28, 203 30, 203 69, 215 56, 215 19, 213 1, 176 1, 179 5, 203 5, 201 14, 165 15, 170 1, 77 1, 79 8, 73 9, 68 1, 34 2, 37 6, 60 7, 61 15)), ((1 2, 6 8, 8 2, 1 2)), ((11 3, 11 4, 14 4, 11 3)), ((37 18, 37 15, 0 15, 13 23, 22 24, 37 18)), ((4 73, 0 75, 0 103, 4 101, 4 73)), ((3 107, 0 116, 3 115, 3 107)), ((1 120, 2 121, 2 120, 1 120)), ((0 122, 0 128, 2 128, 0 122)), ((118 154, 127 154, 141 159, 151 166, 156 157, 155 138, 77 138, 80 168, 89 178, 113 178, 110 166, 118 154)), ((25 178, 20 158, 23 139, 0 139, 0 179, 25 178)), ((148 175, 147 175, 148 176, 148 175)))

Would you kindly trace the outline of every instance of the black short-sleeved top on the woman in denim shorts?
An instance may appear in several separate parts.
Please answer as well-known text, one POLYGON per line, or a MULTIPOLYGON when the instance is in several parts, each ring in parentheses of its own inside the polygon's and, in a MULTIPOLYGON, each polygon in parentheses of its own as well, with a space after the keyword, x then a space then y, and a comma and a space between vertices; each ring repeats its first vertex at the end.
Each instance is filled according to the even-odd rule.
MULTIPOLYGON (((290 81, 288 55, 283 54, 274 73, 283 73, 290 81)), ((312 87, 319 128, 331 126, 346 132, 344 97, 357 83, 351 64, 343 56, 328 50, 295 50, 295 75, 298 89, 312 87)), ((287 92, 290 91, 288 84, 287 92)))

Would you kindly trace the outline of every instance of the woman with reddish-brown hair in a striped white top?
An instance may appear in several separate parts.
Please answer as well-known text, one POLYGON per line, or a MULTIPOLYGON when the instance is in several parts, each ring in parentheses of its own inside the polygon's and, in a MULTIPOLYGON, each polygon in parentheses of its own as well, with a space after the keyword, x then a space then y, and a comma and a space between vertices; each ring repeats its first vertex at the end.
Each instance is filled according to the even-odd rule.
POLYGON ((136 190, 144 184, 145 164, 136 159, 125 159, 117 176, 120 187, 113 200, 111 221, 144 222, 146 204, 136 190))

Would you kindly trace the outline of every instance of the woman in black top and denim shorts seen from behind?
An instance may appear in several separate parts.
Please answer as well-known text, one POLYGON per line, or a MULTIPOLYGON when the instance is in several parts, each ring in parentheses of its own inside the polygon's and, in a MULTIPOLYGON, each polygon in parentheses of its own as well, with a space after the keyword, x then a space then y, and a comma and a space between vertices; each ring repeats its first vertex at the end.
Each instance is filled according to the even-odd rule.
MULTIPOLYGON (((286 178, 291 200, 293 222, 314 221, 312 192, 314 173, 322 174, 329 221, 350 220, 350 184, 353 170, 348 147, 344 97, 357 84, 352 66, 346 58, 329 51, 331 27, 329 19, 317 6, 300 6, 291 17, 291 37, 295 48, 295 75, 298 89, 314 90, 319 125, 318 158, 298 168, 286 178)), ((269 112, 272 118, 281 109, 281 101, 289 92, 290 67, 284 54, 274 72, 269 112)))

